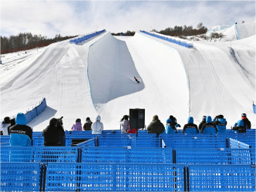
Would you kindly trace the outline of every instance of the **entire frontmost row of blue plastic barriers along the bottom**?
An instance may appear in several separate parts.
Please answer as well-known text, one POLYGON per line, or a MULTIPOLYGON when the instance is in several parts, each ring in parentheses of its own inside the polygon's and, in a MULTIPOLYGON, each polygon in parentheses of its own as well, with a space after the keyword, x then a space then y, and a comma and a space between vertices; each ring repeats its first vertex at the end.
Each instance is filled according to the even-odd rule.
POLYGON ((254 165, 1 163, 2 191, 254 191, 254 165))

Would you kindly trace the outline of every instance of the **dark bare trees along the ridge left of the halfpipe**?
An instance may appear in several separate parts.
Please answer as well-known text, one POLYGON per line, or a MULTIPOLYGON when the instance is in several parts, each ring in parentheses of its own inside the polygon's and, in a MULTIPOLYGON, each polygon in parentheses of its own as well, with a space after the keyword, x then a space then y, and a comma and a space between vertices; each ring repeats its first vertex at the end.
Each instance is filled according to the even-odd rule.
POLYGON ((30 32, 20 32, 19 35, 11 35, 10 37, 1 36, 1 54, 8 52, 19 52, 27 49, 34 49, 70 39, 76 36, 56 35, 53 39, 48 39, 42 35, 32 35, 30 32))

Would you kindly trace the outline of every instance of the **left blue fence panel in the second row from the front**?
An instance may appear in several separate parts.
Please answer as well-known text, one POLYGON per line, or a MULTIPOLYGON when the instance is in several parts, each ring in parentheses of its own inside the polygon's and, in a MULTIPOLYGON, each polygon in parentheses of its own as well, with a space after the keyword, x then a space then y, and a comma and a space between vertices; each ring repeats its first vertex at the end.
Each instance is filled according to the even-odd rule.
POLYGON ((78 162, 77 147, 1 147, 1 162, 78 162))

